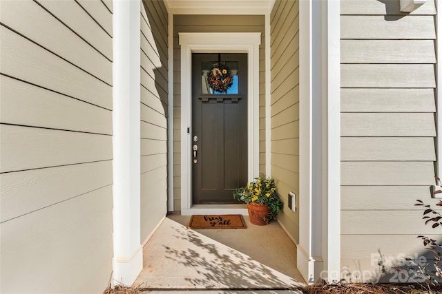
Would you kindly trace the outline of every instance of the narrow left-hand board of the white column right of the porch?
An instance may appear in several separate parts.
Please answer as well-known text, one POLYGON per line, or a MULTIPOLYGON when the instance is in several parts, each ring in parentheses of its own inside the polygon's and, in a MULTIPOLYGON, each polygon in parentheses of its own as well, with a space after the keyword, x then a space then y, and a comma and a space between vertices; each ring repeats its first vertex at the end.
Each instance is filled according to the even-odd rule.
MULTIPOLYGON (((299 193, 299 244, 297 247, 297 266, 302 277, 307 282, 316 282, 318 272, 322 270, 322 260, 319 256, 314 256, 313 246, 314 228, 313 223, 316 216, 314 216, 313 210, 313 198, 314 198, 314 130, 313 130, 313 107, 314 107, 314 53, 313 46, 313 8, 311 1, 299 2, 299 114, 300 114, 300 126, 299 126, 299 181, 300 181, 300 193, 299 193), (318 269, 319 268, 319 269, 318 269)), ((318 21, 318 19, 316 20, 318 21)), ((316 178, 316 187, 320 187, 320 178, 316 178)), ((320 207, 315 207, 319 209, 320 207)), ((320 211, 319 211, 320 213, 320 211)), ((317 244, 316 244, 317 245, 317 244)))

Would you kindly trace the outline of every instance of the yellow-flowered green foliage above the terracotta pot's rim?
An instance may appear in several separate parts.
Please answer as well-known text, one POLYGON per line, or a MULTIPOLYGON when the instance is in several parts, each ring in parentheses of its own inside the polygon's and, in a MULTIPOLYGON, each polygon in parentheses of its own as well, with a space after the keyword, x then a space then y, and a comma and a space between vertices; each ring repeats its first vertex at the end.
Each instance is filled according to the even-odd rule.
POLYGON ((276 219, 278 211, 282 209, 282 201, 276 192, 275 180, 260 176, 253 182, 249 182, 246 187, 236 189, 233 198, 247 204, 251 202, 266 204, 270 213, 268 220, 276 219))

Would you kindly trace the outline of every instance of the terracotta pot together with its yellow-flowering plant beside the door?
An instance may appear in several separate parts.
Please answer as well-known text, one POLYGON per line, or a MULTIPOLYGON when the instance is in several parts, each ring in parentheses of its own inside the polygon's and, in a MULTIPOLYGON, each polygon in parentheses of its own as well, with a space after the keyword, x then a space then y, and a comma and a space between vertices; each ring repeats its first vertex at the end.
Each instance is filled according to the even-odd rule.
POLYGON ((282 201, 276 193, 275 180, 260 176, 246 187, 236 189, 233 198, 247 203, 250 222, 265 225, 269 220, 276 219, 282 209, 282 201))

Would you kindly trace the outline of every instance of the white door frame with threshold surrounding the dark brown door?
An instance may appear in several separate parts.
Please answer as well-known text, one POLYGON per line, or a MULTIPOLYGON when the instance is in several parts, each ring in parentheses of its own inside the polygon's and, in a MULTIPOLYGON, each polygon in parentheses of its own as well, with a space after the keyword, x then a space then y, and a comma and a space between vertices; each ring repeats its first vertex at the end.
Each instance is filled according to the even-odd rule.
POLYGON ((243 204, 192 204, 192 53, 247 53, 247 145, 249 182, 259 176, 259 46, 260 32, 202 33, 180 32, 181 45, 181 214, 240 213, 247 215, 243 204))

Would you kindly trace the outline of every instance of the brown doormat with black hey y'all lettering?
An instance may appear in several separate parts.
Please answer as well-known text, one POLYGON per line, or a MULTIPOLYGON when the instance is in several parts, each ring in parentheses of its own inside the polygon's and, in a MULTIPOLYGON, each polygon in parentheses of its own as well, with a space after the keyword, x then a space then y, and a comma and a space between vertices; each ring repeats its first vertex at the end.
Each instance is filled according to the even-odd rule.
POLYGON ((240 214, 191 216, 189 229, 246 229, 240 214))

